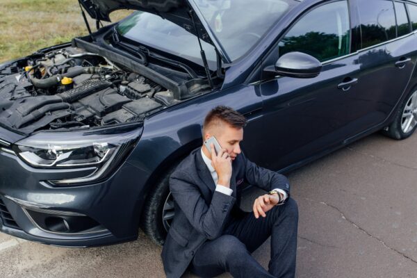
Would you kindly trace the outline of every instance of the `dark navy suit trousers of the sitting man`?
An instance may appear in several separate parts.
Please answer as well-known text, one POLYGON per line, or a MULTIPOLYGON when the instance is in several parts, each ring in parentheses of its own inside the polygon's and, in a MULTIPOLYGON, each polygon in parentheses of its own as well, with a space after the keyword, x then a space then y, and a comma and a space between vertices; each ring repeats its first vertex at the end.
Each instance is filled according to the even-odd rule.
POLYGON ((266 213, 266 218, 253 213, 231 220, 222 236, 207 240, 197 252, 190 270, 201 277, 230 272, 233 277, 294 277, 297 252, 298 208, 289 198, 266 213), (269 270, 251 255, 271 236, 269 270))

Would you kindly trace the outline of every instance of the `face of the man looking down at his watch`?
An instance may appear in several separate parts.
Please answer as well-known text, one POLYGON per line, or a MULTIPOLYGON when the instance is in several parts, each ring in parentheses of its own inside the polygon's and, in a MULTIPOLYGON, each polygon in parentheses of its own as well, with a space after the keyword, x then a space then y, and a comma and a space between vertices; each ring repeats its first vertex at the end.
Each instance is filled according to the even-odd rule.
POLYGON ((234 161, 241 152, 239 143, 243 140, 243 129, 236 129, 233 126, 229 126, 229 124, 222 124, 220 128, 213 130, 212 133, 207 133, 205 140, 215 136, 220 146, 223 149, 227 149, 231 160, 234 161))

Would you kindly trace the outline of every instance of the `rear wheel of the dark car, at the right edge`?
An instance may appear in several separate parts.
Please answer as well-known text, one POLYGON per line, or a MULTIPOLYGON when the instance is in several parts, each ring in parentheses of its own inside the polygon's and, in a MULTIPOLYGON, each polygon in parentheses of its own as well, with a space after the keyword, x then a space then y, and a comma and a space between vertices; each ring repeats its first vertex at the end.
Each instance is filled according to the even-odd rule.
POLYGON ((382 132, 396 140, 408 138, 417 128, 417 90, 411 91, 396 113, 395 120, 382 132))

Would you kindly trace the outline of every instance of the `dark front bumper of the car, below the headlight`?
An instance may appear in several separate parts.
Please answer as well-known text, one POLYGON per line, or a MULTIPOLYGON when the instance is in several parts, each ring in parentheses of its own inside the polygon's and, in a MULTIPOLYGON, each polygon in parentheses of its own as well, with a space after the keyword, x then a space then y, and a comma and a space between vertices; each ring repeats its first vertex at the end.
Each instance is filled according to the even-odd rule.
POLYGON ((30 167, 3 146, 0 149, 0 231, 65 247, 108 245, 136 239, 145 180, 135 166, 124 162, 106 181, 86 186, 58 187, 46 182, 84 177, 89 171, 30 167), (97 226, 77 232, 52 231, 33 218, 28 213, 31 211, 48 211, 56 219, 66 214, 84 215, 97 226))

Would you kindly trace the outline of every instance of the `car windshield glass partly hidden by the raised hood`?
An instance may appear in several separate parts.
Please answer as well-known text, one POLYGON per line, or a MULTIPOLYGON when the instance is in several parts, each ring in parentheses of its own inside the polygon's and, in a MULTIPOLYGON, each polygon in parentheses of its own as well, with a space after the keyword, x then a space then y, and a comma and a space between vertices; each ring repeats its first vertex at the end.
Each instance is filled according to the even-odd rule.
MULTIPOLYGON (((193 0, 227 55, 237 60, 297 3, 295 0, 193 0)), ((152 13, 138 11, 117 24, 120 35, 149 47, 203 65, 198 40, 181 26, 152 13)), ((211 70, 213 45, 202 41, 211 70)))

